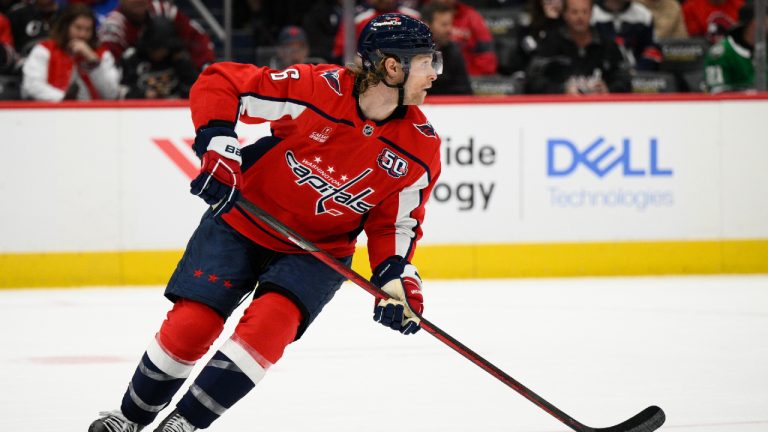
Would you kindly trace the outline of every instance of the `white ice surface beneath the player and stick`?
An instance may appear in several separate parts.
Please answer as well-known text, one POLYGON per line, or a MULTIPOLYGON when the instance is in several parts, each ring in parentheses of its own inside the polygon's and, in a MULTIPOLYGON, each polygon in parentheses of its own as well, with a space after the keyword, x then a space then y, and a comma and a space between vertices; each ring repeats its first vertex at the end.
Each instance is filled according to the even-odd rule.
MULTIPOLYGON (((659 405, 662 431, 768 431, 768 275, 428 280, 425 296, 430 321, 589 426, 659 405)), ((85 432, 119 405, 169 306, 162 287, 0 290, 0 431, 85 432)), ((208 430, 570 430, 371 307, 345 284, 208 430)))

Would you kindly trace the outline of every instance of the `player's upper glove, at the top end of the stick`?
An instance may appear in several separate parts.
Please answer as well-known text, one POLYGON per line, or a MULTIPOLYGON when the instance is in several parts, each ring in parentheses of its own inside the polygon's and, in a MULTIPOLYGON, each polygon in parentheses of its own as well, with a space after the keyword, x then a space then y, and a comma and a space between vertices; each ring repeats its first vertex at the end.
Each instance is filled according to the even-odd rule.
POLYGON ((243 184, 237 134, 229 127, 201 128, 192 149, 202 164, 200 174, 190 184, 190 192, 216 206, 214 216, 226 213, 237 201, 243 184))

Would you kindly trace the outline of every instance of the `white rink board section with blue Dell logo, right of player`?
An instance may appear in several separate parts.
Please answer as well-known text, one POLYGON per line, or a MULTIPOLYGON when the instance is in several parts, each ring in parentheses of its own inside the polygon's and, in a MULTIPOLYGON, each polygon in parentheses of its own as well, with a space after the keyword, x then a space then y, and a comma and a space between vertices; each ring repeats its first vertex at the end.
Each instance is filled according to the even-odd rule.
POLYGON ((472 166, 445 166, 441 182, 475 183, 476 190, 482 184, 493 194, 486 209, 471 210, 433 197, 425 241, 768 236, 768 199, 761 199, 768 196, 768 172, 759 166, 768 160, 768 139, 757 126, 768 115, 764 102, 479 105, 461 107, 460 115, 457 107, 442 105, 427 111, 449 147, 466 148, 472 139, 476 152, 492 148, 496 162, 483 166, 476 157, 472 166), (601 138, 579 157, 594 161, 613 148, 595 169, 622 162, 602 177, 584 163, 574 167, 574 152, 562 142, 583 154, 601 138), (551 161, 550 141, 559 142, 551 145, 551 161), (550 164, 560 175, 550 175, 550 164))

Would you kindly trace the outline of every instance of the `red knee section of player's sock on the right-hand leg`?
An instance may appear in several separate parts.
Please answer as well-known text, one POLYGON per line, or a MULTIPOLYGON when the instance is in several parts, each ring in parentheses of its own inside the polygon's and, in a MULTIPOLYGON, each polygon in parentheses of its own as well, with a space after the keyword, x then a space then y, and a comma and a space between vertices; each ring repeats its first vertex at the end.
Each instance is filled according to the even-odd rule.
POLYGON ((301 311, 288 298, 267 293, 255 299, 235 328, 235 335, 270 364, 277 363, 296 337, 301 311))

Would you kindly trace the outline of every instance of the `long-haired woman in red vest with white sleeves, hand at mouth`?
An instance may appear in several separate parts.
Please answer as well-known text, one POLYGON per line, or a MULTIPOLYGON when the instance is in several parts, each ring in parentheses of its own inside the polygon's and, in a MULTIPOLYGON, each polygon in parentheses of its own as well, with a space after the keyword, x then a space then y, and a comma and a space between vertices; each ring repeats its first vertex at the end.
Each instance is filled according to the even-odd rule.
POLYGON ((24 62, 22 96, 51 102, 116 99, 120 74, 112 54, 97 47, 95 26, 88 6, 67 6, 51 38, 35 45, 24 62))

